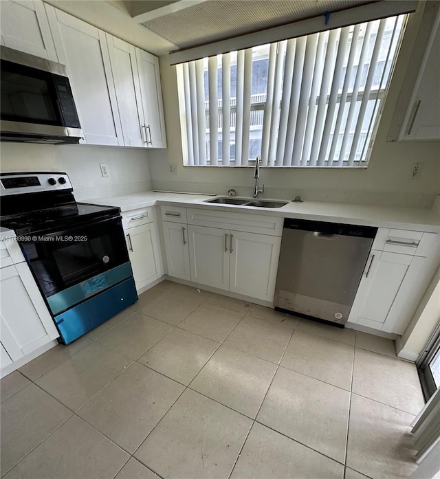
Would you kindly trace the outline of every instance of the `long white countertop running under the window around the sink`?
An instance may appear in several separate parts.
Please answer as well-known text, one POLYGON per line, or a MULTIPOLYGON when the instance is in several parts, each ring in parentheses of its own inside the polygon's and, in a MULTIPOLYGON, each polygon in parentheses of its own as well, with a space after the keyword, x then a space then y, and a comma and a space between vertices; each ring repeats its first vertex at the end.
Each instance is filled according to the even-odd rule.
POLYGON ((322 203, 318 201, 304 201, 304 203, 293 203, 292 201, 289 201, 289 203, 282 208, 255 208, 243 205, 221 205, 205 202, 206 200, 213 198, 214 197, 207 194, 146 191, 143 193, 122 194, 118 197, 89 199, 83 202, 118 206, 122 212, 153 205, 179 204, 190 208, 208 208, 210 210, 219 210, 220 208, 221 210, 230 210, 234 212, 240 211, 250 214, 263 213, 267 215, 283 216, 285 218, 331 221, 334 223, 398 228, 400 230, 415 230, 434 233, 440 232, 439 216, 434 214, 432 210, 419 208, 322 203))

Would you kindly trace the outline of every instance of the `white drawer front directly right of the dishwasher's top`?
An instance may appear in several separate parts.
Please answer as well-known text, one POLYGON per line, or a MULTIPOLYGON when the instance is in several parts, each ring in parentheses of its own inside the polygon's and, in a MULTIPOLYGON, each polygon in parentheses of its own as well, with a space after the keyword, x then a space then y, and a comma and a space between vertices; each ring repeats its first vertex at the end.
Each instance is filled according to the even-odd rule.
POLYGON ((425 257, 433 251, 437 241, 436 233, 379 228, 373 249, 425 257))

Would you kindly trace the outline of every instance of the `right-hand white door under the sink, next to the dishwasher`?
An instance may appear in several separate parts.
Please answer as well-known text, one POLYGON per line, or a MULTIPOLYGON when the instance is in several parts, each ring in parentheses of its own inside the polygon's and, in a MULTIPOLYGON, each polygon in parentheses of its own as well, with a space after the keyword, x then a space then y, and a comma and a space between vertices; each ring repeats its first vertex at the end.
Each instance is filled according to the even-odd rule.
POLYGON ((274 300, 281 238, 232 231, 229 289, 235 293, 274 300))

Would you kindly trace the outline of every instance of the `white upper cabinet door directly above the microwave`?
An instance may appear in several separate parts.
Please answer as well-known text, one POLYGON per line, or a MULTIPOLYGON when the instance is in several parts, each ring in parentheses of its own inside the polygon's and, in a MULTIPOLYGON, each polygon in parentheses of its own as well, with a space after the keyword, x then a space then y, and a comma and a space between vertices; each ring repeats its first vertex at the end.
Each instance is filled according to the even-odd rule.
POLYGON ((1 45, 58 61, 42 1, 1 1, 1 45))

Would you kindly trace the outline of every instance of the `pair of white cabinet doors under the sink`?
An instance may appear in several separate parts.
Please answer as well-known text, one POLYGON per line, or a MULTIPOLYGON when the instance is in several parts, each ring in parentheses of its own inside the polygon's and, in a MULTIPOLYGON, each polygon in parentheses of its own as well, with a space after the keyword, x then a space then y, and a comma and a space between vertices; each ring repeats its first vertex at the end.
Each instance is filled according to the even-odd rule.
POLYGON ((188 226, 191 280, 272 301, 281 238, 188 226))

